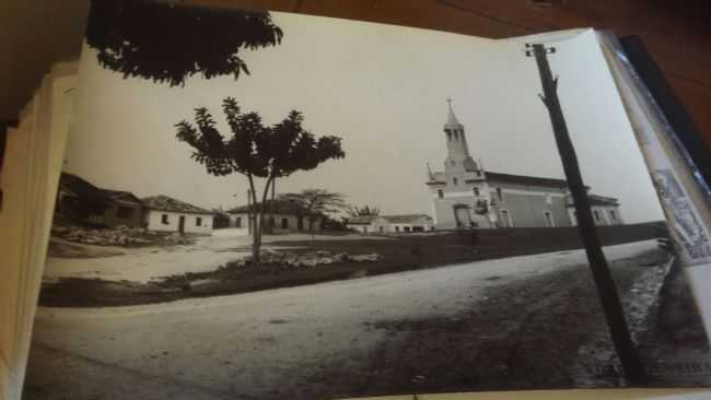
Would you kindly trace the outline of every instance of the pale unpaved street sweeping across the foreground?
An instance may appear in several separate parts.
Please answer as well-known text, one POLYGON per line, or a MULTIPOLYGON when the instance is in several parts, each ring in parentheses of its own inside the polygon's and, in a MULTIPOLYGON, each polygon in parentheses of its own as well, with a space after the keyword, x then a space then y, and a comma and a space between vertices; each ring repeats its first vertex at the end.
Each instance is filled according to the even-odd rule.
MULTIPOLYGON (((655 247, 605 252, 619 260, 655 247)), ((457 315, 487 289, 584 262, 572 250, 147 306, 40 308, 25 398, 301 399, 345 385, 358 392, 387 334, 373 323, 457 315)))

